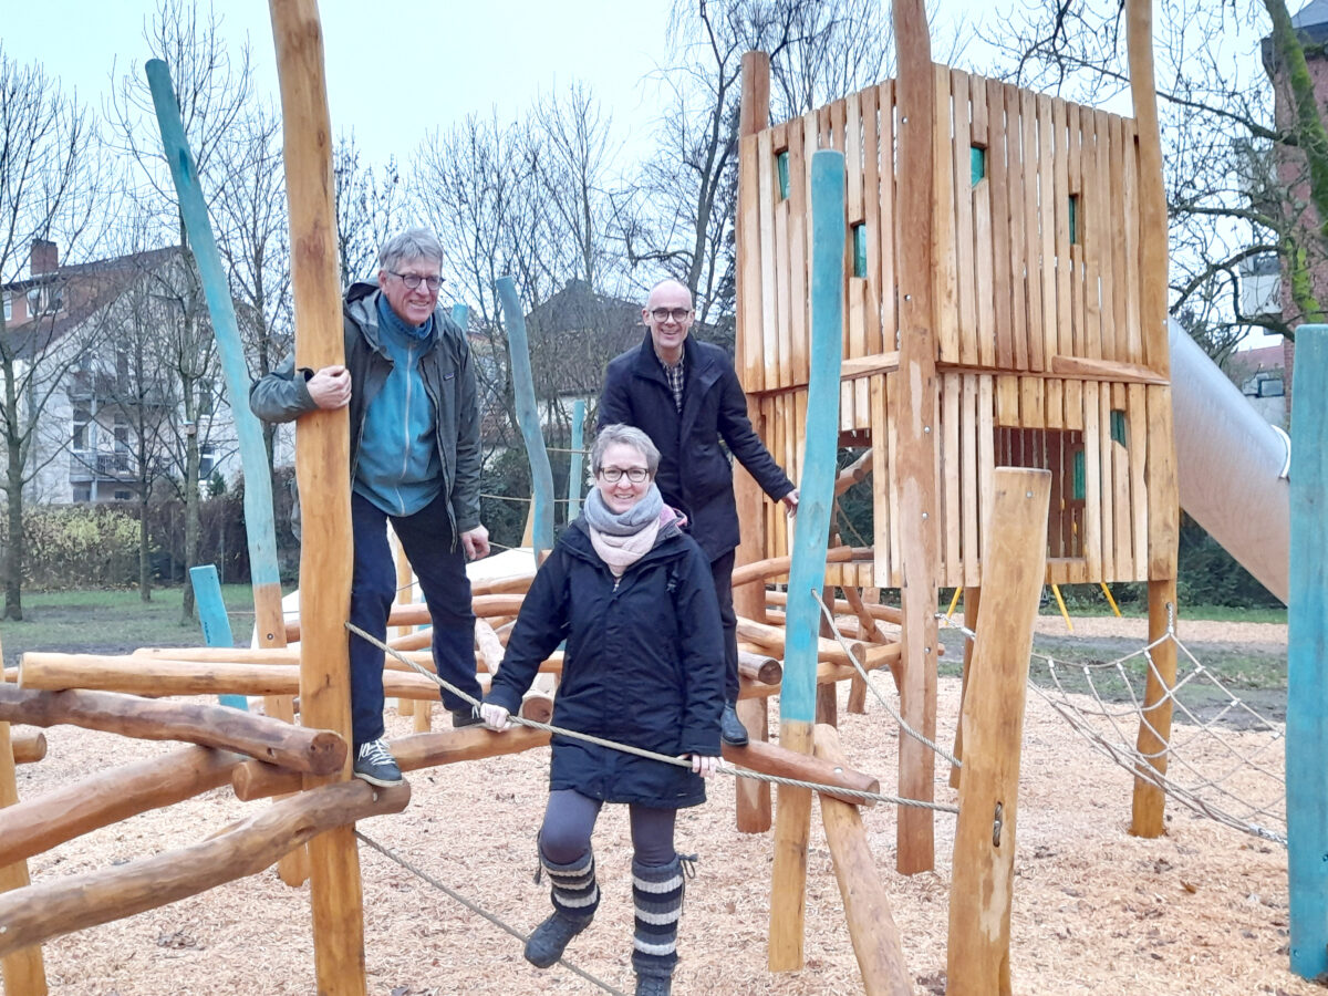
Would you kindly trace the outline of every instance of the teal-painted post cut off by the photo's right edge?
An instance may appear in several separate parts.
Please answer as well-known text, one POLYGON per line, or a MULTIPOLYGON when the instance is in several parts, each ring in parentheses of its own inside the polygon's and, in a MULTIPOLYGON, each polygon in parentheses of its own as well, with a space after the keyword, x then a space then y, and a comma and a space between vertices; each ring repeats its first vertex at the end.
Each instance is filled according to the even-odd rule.
POLYGON ((1291 971, 1328 972, 1328 325, 1296 331, 1287 603, 1291 971))

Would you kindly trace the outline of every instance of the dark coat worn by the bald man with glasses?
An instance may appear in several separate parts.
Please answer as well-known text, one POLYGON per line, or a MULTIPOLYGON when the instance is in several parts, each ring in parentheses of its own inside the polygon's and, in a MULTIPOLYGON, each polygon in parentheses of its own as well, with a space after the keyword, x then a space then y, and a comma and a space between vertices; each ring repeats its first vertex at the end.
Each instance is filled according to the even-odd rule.
POLYGON ((683 376, 680 413, 647 332, 639 348, 608 364, 598 421, 599 428, 635 425, 651 437, 660 452, 660 494, 687 514, 692 537, 710 560, 717 560, 740 539, 733 465, 720 440, 772 499, 784 498, 793 482, 753 432, 746 394, 728 353, 688 336, 683 341, 683 376))

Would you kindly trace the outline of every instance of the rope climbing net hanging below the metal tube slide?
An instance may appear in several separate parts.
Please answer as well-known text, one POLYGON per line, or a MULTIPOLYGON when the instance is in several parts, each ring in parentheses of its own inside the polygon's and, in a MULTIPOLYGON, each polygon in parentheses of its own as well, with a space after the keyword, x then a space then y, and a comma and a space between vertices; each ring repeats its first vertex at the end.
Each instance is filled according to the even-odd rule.
MULTIPOLYGON (((969 629, 959 628, 967 639, 969 629)), ((1098 753, 1193 811, 1242 833, 1287 846, 1286 724, 1260 713, 1190 652, 1174 624, 1153 643, 1109 661, 1029 661, 1029 688, 1098 753), (1155 653, 1175 647, 1175 683, 1166 688, 1155 653), (1165 689, 1171 729, 1145 708, 1149 680, 1165 689), (1161 744, 1139 748, 1141 728, 1161 744), (1158 770, 1158 766, 1165 768, 1158 770)))

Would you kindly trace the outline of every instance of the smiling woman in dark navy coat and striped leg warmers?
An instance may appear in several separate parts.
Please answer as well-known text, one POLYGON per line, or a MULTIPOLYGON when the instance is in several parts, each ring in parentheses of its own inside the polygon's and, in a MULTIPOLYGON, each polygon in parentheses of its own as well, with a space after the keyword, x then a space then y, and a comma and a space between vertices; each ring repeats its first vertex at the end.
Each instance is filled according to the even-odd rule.
POLYGON ((526 957, 547 968, 599 906, 591 833, 604 802, 632 825, 636 992, 667 995, 677 963, 683 865, 677 810, 705 801, 720 754, 724 644, 709 563, 655 486, 659 450, 610 425, 591 452, 586 511, 535 575, 479 714, 506 729, 543 661, 566 640, 552 724, 671 757, 691 768, 555 734, 539 861, 552 915, 526 957))

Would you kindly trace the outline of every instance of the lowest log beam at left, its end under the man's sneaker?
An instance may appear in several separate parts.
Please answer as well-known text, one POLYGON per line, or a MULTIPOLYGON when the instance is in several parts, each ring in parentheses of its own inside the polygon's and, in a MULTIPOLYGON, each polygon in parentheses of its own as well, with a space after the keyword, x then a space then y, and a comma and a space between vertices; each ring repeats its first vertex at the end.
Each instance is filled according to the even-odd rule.
POLYGON ((319 834, 349 827, 357 819, 400 813, 409 802, 409 785, 324 785, 282 799, 201 843, 5 892, 0 895, 0 955, 256 875, 319 834))

